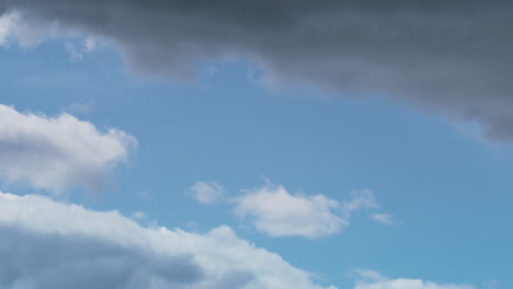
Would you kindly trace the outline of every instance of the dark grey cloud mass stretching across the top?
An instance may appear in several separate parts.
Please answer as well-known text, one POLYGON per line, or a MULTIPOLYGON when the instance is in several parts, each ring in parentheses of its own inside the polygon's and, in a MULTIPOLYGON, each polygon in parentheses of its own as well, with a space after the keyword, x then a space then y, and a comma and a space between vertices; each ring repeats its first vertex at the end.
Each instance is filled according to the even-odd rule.
POLYGON ((513 140, 511 1, 0 0, 114 41, 136 69, 193 77, 242 58, 288 84, 385 94, 513 140))

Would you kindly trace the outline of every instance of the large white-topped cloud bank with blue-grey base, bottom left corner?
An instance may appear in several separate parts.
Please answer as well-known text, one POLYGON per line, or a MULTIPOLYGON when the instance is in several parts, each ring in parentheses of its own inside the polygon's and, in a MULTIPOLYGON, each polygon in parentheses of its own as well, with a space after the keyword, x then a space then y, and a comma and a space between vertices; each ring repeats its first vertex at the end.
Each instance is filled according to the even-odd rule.
MULTIPOLYGON (((117 211, 0 193, 5 289, 322 289, 229 228, 194 234, 142 228, 117 211)), ((334 287, 328 287, 334 289, 334 287)))

